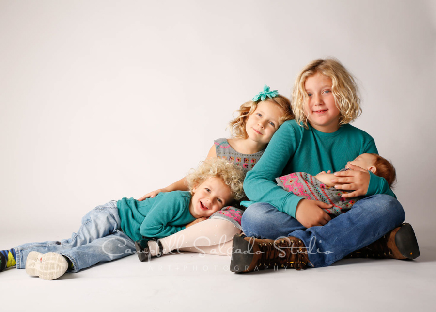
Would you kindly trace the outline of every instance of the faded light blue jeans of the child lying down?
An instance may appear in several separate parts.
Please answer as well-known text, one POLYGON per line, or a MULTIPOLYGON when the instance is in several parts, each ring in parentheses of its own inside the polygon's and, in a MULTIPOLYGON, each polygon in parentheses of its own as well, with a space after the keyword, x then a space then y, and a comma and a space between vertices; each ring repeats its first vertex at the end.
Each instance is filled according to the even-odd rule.
POLYGON ((72 273, 99 262, 129 256, 135 250, 133 240, 121 231, 117 202, 109 201, 87 213, 71 238, 16 246, 16 268, 26 267, 27 255, 31 251, 60 253, 73 263, 74 269, 67 271, 72 273))

